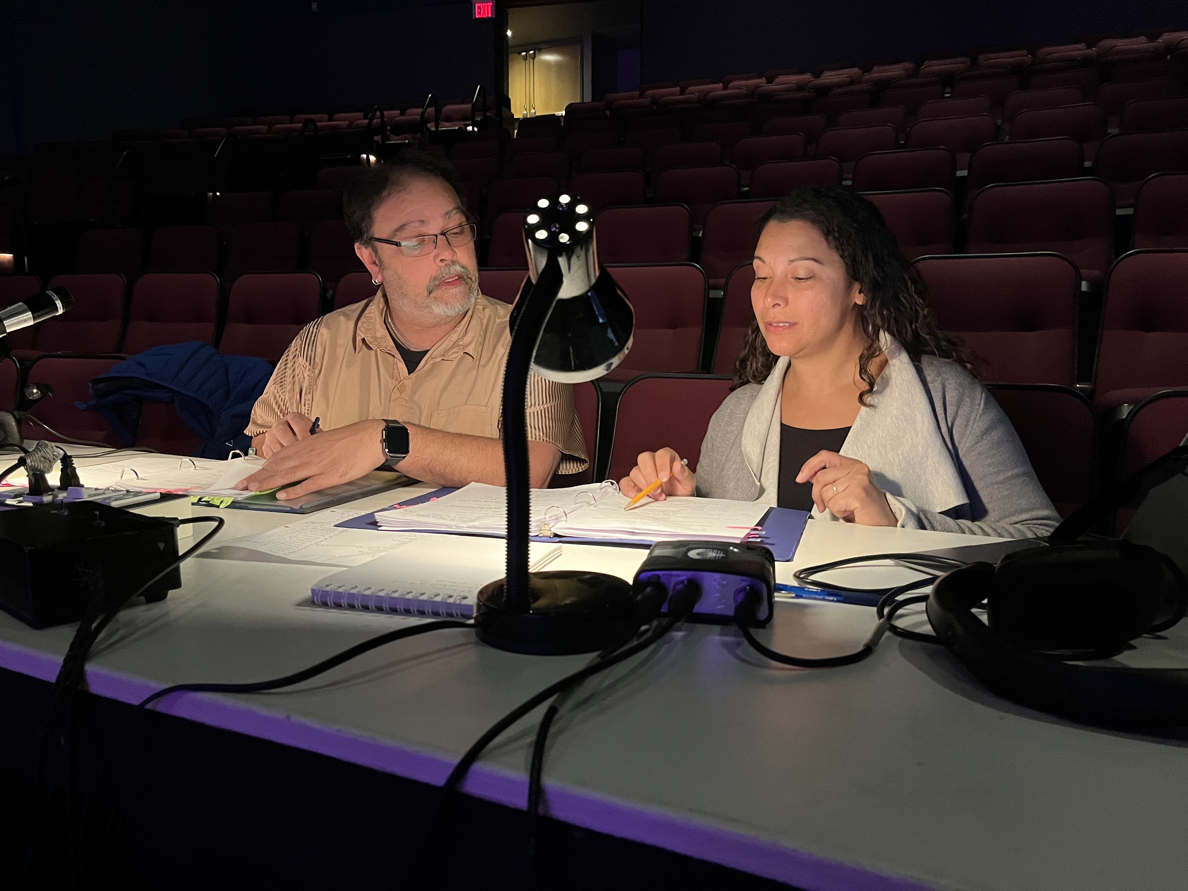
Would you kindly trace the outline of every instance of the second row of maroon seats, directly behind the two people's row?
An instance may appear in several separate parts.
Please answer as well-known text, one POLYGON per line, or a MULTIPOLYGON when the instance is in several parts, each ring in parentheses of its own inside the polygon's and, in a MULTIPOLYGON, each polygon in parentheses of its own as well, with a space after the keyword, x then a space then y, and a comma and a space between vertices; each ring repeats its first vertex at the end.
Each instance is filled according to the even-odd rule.
MULTIPOLYGON (((1114 263, 1100 327, 1083 312, 1080 271, 1056 253, 924 257, 916 267, 939 326, 965 340, 984 380, 1095 383, 1095 403, 1104 411, 1159 388, 1188 386, 1188 251, 1135 251, 1114 263), (1095 345, 1094 355, 1078 355, 1085 343, 1095 345), (1079 375, 1079 367, 1089 377, 1079 375)), ((649 372, 729 372, 753 318, 750 264, 727 276, 721 304, 708 299, 706 273, 691 263, 608 268, 636 310, 634 346, 608 380, 649 372)), ((482 292, 505 302, 516 299, 526 276, 523 270, 479 274, 482 292)), ((131 354, 189 340, 276 360, 321 311, 375 291, 368 273, 352 272, 327 305, 311 272, 247 273, 223 304, 210 273, 145 273, 126 305, 118 273, 59 276, 49 284, 70 289, 76 305, 10 336, 26 362, 44 353, 131 354)), ((33 277, 0 278, 0 301, 24 299, 38 287, 33 277)))

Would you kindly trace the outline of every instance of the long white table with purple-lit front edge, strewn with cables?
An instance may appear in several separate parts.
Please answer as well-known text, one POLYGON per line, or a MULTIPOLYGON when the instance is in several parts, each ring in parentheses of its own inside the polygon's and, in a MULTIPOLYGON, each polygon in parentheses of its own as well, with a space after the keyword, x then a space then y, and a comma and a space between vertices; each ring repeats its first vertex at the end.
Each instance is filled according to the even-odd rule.
MULTIPOLYGON (((386 493, 358 504, 374 510, 392 500, 386 493)), ((227 529, 211 546, 292 519, 221 516, 227 529)), ((794 565, 974 541, 810 523, 794 565)), ((586 552, 596 568, 599 549, 586 552)), ((791 569, 781 564, 781 581, 791 569)), ((90 662, 90 689, 135 702, 172 683, 263 680, 406 621, 301 606, 330 571, 191 560, 184 586, 164 602, 120 614, 90 662)), ((783 602, 765 637, 785 652, 824 656, 855 647, 873 621, 866 607, 783 602)), ((52 680, 72 632, 33 631, 0 613, 0 666, 52 680)), ((1188 637, 1174 634, 1144 642, 1131 663, 1186 657, 1188 637)), ((441 784, 494 720, 587 658, 518 656, 468 631, 444 631, 295 690, 185 694, 158 707, 441 784)), ((1188 881, 1182 744, 1013 706, 937 646, 886 638, 860 664, 797 670, 762 659, 731 628, 685 626, 621 669, 583 688, 583 704, 554 731, 546 803, 565 822, 810 890, 1188 881)), ((466 792, 525 805, 536 716, 488 750, 466 792)))

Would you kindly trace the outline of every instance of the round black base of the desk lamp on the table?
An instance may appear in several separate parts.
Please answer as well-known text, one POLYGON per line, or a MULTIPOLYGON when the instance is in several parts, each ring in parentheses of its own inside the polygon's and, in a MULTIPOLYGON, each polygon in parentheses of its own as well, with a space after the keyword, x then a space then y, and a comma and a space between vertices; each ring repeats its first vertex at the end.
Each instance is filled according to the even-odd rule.
POLYGON ((479 592, 475 636, 500 650, 533 656, 596 652, 636 628, 631 583, 613 575, 531 573, 527 612, 506 604, 504 579, 479 592))

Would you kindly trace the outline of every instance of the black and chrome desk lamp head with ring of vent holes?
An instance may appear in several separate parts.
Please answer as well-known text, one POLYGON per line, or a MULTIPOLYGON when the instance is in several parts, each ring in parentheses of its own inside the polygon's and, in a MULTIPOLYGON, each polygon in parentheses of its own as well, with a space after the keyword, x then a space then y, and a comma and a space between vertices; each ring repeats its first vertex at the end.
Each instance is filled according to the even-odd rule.
MULTIPOLYGON (((601 378, 631 349, 636 314, 611 273, 599 268, 589 206, 564 194, 541 198, 527 214, 524 240, 533 293, 538 287, 555 291, 532 371, 563 384, 601 378), (542 280, 541 273, 552 263, 560 279, 542 280)), ((511 323, 514 327, 514 312, 511 323)))

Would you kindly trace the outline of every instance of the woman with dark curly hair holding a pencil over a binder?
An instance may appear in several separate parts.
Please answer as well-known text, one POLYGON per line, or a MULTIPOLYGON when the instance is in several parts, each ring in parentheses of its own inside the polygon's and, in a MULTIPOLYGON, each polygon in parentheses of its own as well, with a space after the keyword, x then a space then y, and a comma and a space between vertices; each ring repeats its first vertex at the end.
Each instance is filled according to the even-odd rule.
POLYGON ((878 209, 840 187, 760 221, 754 321, 697 473, 672 449, 620 482, 762 501, 870 526, 1024 538, 1060 522, 1018 436, 936 329, 924 284, 878 209))

